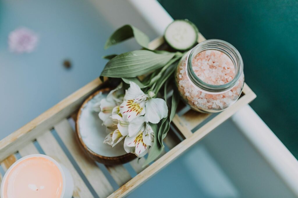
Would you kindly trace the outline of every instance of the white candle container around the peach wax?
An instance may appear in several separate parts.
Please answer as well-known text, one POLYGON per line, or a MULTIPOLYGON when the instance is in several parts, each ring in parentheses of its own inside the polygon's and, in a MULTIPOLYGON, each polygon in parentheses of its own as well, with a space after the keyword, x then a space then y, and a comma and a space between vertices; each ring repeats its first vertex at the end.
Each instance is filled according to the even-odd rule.
POLYGON ((47 156, 47 155, 42 155, 42 154, 32 154, 32 155, 27 155, 21 159, 19 159, 18 161, 16 161, 15 163, 13 163, 13 165, 10 166, 10 168, 6 171, 3 180, 1 182, 1 188, 0 188, 0 197, 4 198, 4 183, 9 175, 9 173, 11 172, 11 170, 17 165, 19 164, 21 161, 24 161, 25 159, 28 158, 32 158, 32 157, 42 157, 42 158, 46 158, 50 161, 52 161, 60 170, 60 173, 62 175, 62 179, 63 179, 63 189, 62 189, 62 193, 61 193, 61 198, 71 198, 73 191, 74 191, 74 181, 72 178, 72 175, 70 174, 69 170, 63 166, 62 164, 59 164, 57 161, 55 161, 53 158, 47 156))

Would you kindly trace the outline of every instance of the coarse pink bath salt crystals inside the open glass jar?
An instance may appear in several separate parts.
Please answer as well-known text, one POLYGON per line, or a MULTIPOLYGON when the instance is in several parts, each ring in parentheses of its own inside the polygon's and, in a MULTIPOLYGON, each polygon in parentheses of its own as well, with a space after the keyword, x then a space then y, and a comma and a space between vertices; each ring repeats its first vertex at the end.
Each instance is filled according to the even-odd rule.
MULTIPOLYGON (((195 109, 220 111, 232 105, 240 96, 244 75, 241 74, 236 85, 224 93, 207 93, 191 83, 187 76, 186 59, 179 62, 176 83, 182 97, 195 109)), ((232 60, 221 51, 206 50, 197 54, 192 60, 192 68, 198 78, 207 84, 223 85, 235 77, 235 66, 232 60)))

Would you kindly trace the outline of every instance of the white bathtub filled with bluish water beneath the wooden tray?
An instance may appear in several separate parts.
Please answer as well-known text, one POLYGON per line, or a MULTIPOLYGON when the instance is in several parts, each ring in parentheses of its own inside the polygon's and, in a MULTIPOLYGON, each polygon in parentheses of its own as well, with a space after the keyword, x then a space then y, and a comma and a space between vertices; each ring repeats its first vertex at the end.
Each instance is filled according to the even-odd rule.
MULTIPOLYGON (((0 25, 1 139, 99 76, 101 56, 138 48, 129 41, 103 51, 114 29, 129 23, 153 39, 173 20, 155 0, 47 4, 0 1, 8 19, 0 25), (40 35, 33 53, 7 51, 7 35, 18 26, 40 35)), ((128 197, 298 197, 298 162, 246 106, 128 197)))

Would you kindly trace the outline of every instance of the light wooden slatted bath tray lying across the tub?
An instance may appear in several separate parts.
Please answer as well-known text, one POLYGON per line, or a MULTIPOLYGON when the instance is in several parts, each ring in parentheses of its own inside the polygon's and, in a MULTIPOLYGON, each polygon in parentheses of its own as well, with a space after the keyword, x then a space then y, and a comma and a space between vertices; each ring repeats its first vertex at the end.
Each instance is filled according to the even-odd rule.
MULTIPOLYGON (((205 38, 200 34, 199 42, 203 40, 205 38)), ((157 38, 150 43, 150 48, 156 49, 163 43, 162 37, 157 38)), ((171 130, 164 139, 169 151, 162 153, 150 166, 142 168, 144 158, 139 161, 135 159, 126 165, 99 166, 80 149, 73 127, 73 118, 83 101, 100 89, 101 84, 100 79, 95 79, 2 139, 0 141, 2 177, 18 158, 43 153, 70 170, 75 182, 74 198, 123 197, 256 97, 247 84, 244 84, 243 94, 239 100, 225 111, 213 116, 195 112, 181 105, 173 119, 171 130), (129 166, 136 173, 134 177, 127 170, 129 166)), ((0 181, 2 177, 0 174, 0 181)))

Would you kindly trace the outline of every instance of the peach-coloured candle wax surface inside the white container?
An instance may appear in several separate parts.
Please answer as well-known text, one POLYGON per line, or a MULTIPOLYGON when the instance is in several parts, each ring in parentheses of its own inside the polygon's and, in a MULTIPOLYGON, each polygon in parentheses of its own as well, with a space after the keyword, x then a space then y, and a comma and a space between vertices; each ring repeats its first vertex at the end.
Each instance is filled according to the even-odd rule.
POLYGON ((60 169, 41 156, 17 162, 4 179, 3 198, 60 198, 63 191, 60 169))

